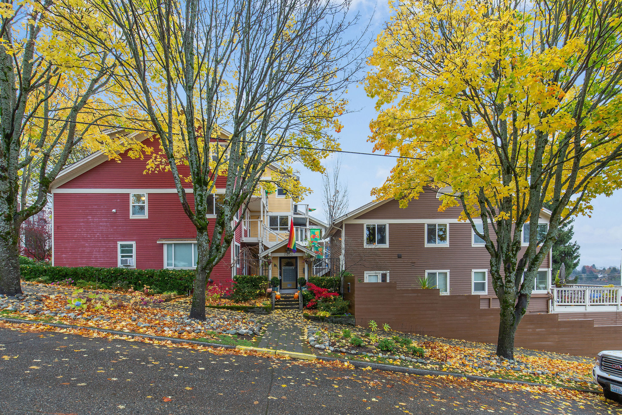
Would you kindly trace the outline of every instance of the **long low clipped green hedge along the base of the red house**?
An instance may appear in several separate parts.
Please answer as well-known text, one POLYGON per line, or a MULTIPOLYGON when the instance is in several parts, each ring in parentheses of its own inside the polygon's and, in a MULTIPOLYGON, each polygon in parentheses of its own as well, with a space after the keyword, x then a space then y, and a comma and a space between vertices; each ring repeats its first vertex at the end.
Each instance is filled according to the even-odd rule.
POLYGON ((128 268, 96 268, 93 266, 41 266, 21 265, 22 279, 26 281, 57 282, 63 279, 73 281, 99 282, 106 286, 114 286, 117 282, 127 282, 134 289, 142 289, 143 285, 156 292, 177 292, 186 294, 192 289, 195 278, 193 269, 128 269, 128 268))

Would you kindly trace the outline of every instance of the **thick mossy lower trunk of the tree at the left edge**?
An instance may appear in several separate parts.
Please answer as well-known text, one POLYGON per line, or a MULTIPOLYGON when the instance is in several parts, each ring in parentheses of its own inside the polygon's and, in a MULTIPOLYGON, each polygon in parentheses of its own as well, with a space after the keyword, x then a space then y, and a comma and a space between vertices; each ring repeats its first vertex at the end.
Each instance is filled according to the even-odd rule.
MULTIPOLYGON (((6 210, 5 212, 8 212, 6 210)), ((8 213, 6 213, 8 215, 8 213)), ((22 293, 17 253, 19 233, 13 221, 0 218, 0 294, 14 296, 22 293)))

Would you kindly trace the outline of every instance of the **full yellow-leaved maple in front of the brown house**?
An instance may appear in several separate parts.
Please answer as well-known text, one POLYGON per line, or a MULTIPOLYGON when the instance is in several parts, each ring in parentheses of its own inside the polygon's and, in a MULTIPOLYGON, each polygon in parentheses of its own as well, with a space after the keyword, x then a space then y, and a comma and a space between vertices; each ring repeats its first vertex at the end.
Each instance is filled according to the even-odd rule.
POLYGON ((501 303, 496 353, 512 358, 560 226, 621 184, 622 3, 391 7, 369 58, 366 91, 379 111, 370 140, 411 158, 374 194, 404 207, 426 187, 450 187, 439 210, 461 206, 460 219, 485 241, 501 303), (546 231, 541 215, 550 216, 546 231))

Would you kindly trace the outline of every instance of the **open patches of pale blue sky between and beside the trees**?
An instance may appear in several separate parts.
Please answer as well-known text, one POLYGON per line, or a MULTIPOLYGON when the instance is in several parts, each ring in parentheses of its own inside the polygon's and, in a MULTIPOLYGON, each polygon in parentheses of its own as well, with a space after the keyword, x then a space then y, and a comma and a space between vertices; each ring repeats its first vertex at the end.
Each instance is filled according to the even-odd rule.
MULTIPOLYGON (((355 1, 362 14, 369 16, 374 11, 375 2, 355 1)), ((371 31, 375 39, 381 25, 388 18, 383 4, 375 7, 371 31)), ((367 141, 370 134, 369 121, 376 116, 374 100, 366 96, 363 86, 352 86, 347 96, 350 110, 356 112, 341 118, 344 128, 335 137, 346 151, 371 152, 372 144, 367 141)), ((373 187, 382 185, 394 166, 394 159, 378 156, 341 154, 341 177, 350 191, 349 210, 371 202, 369 194, 373 187)), ((328 159, 330 164, 330 158, 328 159)), ((313 189, 313 194, 305 198, 310 208, 317 208, 313 215, 324 220, 322 210, 322 177, 309 170, 300 170, 302 183, 313 189)), ((622 249, 622 190, 616 190, 611 197, 600 196, 593 202, 591 217, 578 217, 575 220, 575 240, 581 246, 581 264, 596 266, 620 266, 622 249)))

